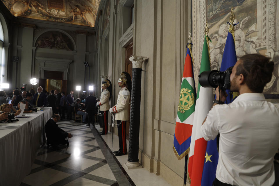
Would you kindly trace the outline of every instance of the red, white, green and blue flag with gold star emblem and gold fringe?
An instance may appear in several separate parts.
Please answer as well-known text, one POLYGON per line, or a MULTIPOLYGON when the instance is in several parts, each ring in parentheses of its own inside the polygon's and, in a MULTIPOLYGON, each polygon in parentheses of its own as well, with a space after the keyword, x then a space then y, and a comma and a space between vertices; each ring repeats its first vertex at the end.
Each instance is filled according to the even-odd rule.
MULTIPOLYGON (((189 44, 189 46, 191 46, 191 44, 189 44)), ((174 132, 173 148, 178 160, 181 160, 189 152, 196 104, 196 90, 191 53, 192 52, 188 47, 181 81, 179 105, 174 132)))

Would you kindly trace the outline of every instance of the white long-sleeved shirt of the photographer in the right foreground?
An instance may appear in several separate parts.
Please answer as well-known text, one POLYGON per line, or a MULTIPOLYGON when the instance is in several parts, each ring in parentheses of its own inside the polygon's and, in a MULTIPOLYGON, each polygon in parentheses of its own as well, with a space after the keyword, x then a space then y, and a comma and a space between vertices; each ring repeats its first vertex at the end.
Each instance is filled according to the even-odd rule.
POLYGON ((220 133, 216 178, 231 185, 271 186, 273 156, 279 147, 279 105, 263 94, 244 93, 232 103, 215 105, 201 126, 203 138, 220 133))

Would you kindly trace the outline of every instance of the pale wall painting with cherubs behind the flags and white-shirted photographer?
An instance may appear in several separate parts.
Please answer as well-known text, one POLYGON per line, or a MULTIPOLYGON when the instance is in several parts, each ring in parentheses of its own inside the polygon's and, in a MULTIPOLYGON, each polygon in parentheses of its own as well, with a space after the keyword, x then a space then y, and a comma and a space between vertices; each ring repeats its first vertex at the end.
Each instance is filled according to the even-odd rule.
MULTIPOLYGON (((279 94, 279 42, 276 37, 277 1, 272 0, 207 0, 211 68, 219 69, 226 43, 230 9, 235 13, 235 49, 237 58, 258 53, 275 62, 271 82, 266 94, 279 94)), ((278 26, 277 26, 278 27, 278 26)))

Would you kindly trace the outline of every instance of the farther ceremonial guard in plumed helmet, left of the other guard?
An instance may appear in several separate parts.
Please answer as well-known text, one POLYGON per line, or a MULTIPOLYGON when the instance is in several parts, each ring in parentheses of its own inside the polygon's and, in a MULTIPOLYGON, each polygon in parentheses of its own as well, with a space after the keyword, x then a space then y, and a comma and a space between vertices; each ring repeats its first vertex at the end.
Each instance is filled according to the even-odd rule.
POLYGON ((96 103, 96 105, 100 105, 100 125, 103 127, 103 131, 100 133, 101 135, 108 133, 108 110, 110 109, 110 104, 108 101, 111 97, 111 82, 110 80, 102 81, 102 93, 100 101, 96 103))

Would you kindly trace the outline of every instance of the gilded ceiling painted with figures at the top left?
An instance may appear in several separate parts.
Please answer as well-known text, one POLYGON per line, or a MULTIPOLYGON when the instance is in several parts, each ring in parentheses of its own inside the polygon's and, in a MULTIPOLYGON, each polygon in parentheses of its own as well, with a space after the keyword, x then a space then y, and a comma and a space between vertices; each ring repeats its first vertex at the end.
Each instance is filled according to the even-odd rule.
POLYGON ((12 15, 94 27, 100 0, 1 0, 12 15))

